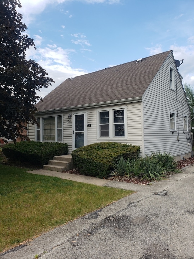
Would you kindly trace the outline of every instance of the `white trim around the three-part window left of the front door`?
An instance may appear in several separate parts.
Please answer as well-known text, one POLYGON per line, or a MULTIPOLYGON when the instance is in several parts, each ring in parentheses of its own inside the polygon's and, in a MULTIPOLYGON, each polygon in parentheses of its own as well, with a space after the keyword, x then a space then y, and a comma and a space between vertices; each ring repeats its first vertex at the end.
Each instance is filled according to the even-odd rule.
POLYGON ((40 118, 40 141, 36 140, 36 130, 37 130, 37 125, 35 124, 35 141, 37 142, 59 142, 59 143, 63 143, 63 114, 51 114, 51 115, 45 115, 45 116, 38 116, 36 119, 40 118), (57 117, 61 116, 61 120, 62 120, 62 141, 57 141, 57 117), (46 141, 43 140, 43 118, 48 118, 48 117, 55 117, 55 141, 46 141))

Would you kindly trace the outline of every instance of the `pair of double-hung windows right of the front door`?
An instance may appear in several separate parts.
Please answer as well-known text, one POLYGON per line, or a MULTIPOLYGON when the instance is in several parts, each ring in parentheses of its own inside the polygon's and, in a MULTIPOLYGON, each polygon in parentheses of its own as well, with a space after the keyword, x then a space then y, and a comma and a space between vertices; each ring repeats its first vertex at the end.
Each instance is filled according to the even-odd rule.
POLYGON ((98 138, 126 138, 125 109, 99 111, 98 138))

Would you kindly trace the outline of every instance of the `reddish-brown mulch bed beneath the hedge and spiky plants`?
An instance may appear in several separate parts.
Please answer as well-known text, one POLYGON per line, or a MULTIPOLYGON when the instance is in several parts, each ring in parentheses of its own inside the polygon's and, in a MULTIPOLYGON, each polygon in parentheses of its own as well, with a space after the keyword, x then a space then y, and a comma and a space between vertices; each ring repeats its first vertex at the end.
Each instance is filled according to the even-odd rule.
MULTIPOLYGON (((183 169, 185 167, 187 167, 188 165, 192 165, 194 164, 194 157, 193 158, 188 158, 188 160, 184 159, 184 160, 180 160, 177 162, 177 169, 183 169)), ((79 170, 77 168, 71 169, 71 170, 67 170, 67 171, 63 171, 63 173, 69 173, 69 174, 75 174, 75 175, 81 175, 81 173, 79 172, 79 170)), ((107 179, 110 181, 115 181, 115 179, 107 179)), ((147 180, 142 180, 134 177, 134 178, 122 178, 123 182, 129 182, 129 183, 135 183, 135 184, 142 184, 142 185, 147 185, 150 181, 147 180)))

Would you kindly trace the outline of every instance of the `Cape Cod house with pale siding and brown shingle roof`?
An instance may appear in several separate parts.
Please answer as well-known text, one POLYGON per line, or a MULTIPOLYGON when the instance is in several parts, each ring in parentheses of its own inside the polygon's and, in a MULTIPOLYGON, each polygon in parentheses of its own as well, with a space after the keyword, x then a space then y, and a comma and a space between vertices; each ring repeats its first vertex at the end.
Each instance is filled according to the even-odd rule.
POLYGON ((190 110, 172 50, 68 78, 36 104, 33 141, 140 146, 140 155, 191 156, 190 110))

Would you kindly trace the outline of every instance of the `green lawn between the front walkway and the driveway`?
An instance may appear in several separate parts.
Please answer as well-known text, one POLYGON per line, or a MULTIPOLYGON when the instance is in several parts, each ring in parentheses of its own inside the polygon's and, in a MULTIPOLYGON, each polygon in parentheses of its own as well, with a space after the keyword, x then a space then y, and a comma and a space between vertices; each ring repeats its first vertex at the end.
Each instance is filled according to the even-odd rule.
POLYGON ((0 164, 1 252, 132 193, 25 170, 0 164))

